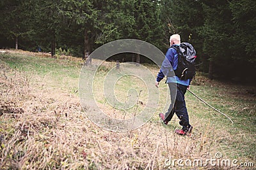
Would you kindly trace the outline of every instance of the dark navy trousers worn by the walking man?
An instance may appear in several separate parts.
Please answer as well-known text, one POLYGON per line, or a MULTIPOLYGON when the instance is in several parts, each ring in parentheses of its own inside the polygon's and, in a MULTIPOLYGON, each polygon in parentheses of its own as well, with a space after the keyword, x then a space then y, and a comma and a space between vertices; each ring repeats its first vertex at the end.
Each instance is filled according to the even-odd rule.
POLYGON ((180 119, 179 124, 182 125, 183 131, 188 131, 189 127, 189 117, 188 110, 186 108, 185 94, 188 86, 180 85, 176 83, 168 83, 172 103, 169 106, 168 111, 165 113, 165 120, 170 122, 174 113, 180 119))

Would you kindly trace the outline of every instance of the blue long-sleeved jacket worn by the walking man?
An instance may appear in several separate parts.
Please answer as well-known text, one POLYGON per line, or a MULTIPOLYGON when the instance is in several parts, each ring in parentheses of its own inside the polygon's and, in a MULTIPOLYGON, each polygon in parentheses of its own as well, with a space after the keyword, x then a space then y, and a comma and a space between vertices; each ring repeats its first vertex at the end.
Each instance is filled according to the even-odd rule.
MULTIPOLYGON (((172 45, 172 46, 179 46, 179 45, 172 45)), ((161 66, 159 73, 157 74, 156 81, 161 81, 164 76, 167 76, 166 83, 179 83, 181 85, 189 85, 190 80, 180 80, 179 77, 174 75, 175 69, 178 66, 178 53, 177 51, 172 48, 172 46, 168 49, 165 55, 165 59, 161 66)))

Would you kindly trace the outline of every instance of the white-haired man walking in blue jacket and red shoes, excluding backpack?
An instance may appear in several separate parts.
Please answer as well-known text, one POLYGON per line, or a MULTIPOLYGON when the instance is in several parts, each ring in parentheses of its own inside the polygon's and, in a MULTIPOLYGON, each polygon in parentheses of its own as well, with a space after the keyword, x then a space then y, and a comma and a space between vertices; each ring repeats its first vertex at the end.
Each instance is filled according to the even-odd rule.
POLYGON ((179 124, 182 126, 182 129, 176 130, 175 132, 184 136, 190 135, 193 129, 193 127, 189 124, 189 116, 184 97, 186 90, 189 89, 191 80, 180 80, 179 77, 172 74, 178 66, 178 53, 177 50, 175 50, 175 46, 179 45, 179 34, 173 34, 170 36, 170 48, 166 52, 166 58, 164 59, 162 67, 157 74, 156 87, 158 88, 159 81, 161 81, 164 76, 167 76, 166 83, 168 83, 170 89, 172 103, 170 104, 170 107, 165 115, 163 113, 159 113, 159 117, 161 120, 163 120, 164 124, 167 125, 172 119, 174 113, 176 113, 177 117, 180 119, 179 124), (171 67, 168 67, 168 65, 171 65, 173 70, 171 67))

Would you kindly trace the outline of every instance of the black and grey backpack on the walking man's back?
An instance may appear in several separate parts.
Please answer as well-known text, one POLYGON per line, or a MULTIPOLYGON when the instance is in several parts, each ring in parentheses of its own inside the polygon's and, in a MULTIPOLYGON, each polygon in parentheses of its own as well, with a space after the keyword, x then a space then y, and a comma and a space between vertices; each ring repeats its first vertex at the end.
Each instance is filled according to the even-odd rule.
POLYGON ((172 46, 178 53, 178 66, 174 73, 180 80, 193 79, 196 74, 195 59, 196 51, 189 43, 181 43, 179 46, 172 46))

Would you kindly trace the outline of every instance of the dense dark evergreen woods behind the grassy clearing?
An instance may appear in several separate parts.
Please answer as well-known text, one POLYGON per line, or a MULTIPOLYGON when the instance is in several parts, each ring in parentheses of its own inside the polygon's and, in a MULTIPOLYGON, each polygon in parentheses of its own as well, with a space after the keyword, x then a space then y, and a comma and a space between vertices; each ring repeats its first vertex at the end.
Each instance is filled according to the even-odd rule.
POLYGON ((179 33, 209 78, 255 81, 253 0, 2 0, 0 15, 3 49, 86 57, 109 41, 134 38, 165 53, 179 33))

